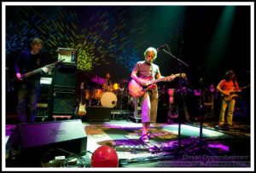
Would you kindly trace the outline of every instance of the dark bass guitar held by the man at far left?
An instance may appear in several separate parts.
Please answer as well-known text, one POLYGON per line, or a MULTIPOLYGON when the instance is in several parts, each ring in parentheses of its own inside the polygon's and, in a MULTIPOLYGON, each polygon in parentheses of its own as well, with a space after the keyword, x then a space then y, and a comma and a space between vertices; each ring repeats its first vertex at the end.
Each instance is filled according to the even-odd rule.
POLYGON ((17 88, 20 86, 20 84, 23 83, 23 82, 26 80, 26 78, 31 77, 32 75, 37 74, 38 72, 42 72, 44 67, 51 68, 51 67, 53 67, 53 66, 55 66, 55 65, 60 64, 62 61, 63 61, 63 60, 61 60, 61 61, 55 61, 55 62, 53 62, 53 63, 51 63, 51 64, 49 64, 49 65, 40 67, 40 68, 38 68, 38 69, 36 69, 36 70, 33 70, 33 71, 31 71, 31 72, 26 72, 26 73, 24 73, 24 74, 21 74, 21 78, 22 78, 23 80, 20 80, 20 79, 18 79, 18 78, 13 78, 13 79, 11 79, 11 89, 13 89, 13 90, 17 89, 17 88))

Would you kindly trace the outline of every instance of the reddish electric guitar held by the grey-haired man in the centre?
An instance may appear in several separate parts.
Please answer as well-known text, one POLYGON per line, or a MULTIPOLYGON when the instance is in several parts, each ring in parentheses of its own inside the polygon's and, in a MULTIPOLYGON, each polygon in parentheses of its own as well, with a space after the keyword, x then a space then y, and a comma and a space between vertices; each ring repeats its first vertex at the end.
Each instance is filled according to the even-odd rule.
MULTIPOLYGON (((140 84, 137 84, 137 82, 134 79, 131 79, 131 81, 128 84, 128 89, 129 89, 129 94, 134 96, 134 97, 140 97, 144 95, 148 90, 153 90, 157 88, 156 83, 160 81, 172 81, 174 78, 180 77, 180 73, 177 74, 172 74, 170 76, 164 77, 164 78, 158 78, 154 80, 148 80, 148 86, 141 86, 140 84)), ((182 78, 186 78, 186 74, 182 73, 181 74, 182 78)))

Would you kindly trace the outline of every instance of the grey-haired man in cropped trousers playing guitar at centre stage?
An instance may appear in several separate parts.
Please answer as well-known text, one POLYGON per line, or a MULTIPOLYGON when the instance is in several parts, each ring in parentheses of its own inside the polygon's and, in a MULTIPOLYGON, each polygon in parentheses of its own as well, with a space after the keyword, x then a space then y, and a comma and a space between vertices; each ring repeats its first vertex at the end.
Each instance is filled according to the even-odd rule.
MULTIPOLYGON (((131 72, 131 78, 141 86, 148 86, 148 81, 155 78, 163 78, 160 75, 159 66, 155 65, 153 61, 157 57, 157 50, 149 47, 144 52, 145 61, 138 61, 131 72)), ((144 95, 138 97, 142 107, 142 136, 141 141, 149 142, 152 138, 148 132, 151 123, 156 122, 157 105, 158 105, 158 90, 148 89, 144 95)))

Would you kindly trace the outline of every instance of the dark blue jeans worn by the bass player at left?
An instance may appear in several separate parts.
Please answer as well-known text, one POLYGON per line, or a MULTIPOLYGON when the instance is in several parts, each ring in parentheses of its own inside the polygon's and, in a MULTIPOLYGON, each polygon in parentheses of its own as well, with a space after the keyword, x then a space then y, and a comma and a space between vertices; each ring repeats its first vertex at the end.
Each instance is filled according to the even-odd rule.
POLYGON ((18 123, 33 123, 36 118, 40 80, 26 81, 18 91, 18 123))

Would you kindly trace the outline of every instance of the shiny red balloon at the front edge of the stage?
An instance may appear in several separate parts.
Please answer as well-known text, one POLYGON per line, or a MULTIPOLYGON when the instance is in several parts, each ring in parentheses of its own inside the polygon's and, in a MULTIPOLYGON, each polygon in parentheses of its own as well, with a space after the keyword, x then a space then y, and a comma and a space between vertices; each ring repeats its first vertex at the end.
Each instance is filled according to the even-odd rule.
POLYGON ((92 167, 119 167, 118 155, 112 147, 98 147, 91 156, 92 167))

